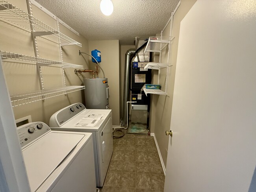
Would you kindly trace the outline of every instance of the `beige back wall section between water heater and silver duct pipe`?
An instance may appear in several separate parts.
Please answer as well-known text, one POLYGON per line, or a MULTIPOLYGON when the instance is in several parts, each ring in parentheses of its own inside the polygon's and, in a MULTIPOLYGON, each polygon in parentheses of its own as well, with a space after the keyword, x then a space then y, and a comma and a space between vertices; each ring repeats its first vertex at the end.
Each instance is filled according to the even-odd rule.
MULTIPOLYGON (((121 118, 119 90, 119 40, 89 41, 89 52, 92 50, 101 52, 100 66, 108 78, 109 85, 109 109, 112 109, 113 125, 118 126, 121 118)), ((95 68, 95 64, 90 61, 90 68, 95 68)), ((99 77, 102 78, 100 70, 99 77)))

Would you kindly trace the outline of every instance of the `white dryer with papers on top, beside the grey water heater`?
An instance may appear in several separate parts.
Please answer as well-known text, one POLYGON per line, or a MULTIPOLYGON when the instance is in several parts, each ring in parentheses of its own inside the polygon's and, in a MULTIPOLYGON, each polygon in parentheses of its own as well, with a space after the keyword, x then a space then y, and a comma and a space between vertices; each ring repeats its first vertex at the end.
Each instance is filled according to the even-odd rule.
POLYGON ((96 185, 102 187, 113 153, 111 109, 86 109, 82 103, 75 103, 54 113, 50 127, 93 134, 96 185))

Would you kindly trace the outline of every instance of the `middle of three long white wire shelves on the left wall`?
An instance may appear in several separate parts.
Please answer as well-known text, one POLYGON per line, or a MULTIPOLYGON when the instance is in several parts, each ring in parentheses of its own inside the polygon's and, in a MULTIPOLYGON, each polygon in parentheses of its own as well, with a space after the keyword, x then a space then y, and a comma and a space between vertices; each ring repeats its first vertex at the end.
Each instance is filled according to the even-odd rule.
POLYGON ((11 53, 11 52, 6 52, 6 51, 1 51, 0 50, 0 56, 2 59, 15 59, 19 61, 28 61, 28 62, 34 62, 34 63, 41 63, 43 65, 50 65, 50 66, 63 66, 65 68, 67 67, 72 67, 72 68, 83 68, 83 65, 76 65, 72 63, 64 63, 61 61, 54 61, 50 59, 43 59, 40 57, 33 57, 33 56, 28 56, 28 55, 22 55, 22 54, 16 54, 16 53, 11 53))

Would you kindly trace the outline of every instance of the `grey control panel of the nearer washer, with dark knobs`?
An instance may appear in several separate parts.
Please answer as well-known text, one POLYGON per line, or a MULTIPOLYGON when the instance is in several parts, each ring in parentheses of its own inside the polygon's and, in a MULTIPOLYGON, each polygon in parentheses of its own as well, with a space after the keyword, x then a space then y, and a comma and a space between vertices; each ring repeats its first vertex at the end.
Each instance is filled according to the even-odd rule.
POLYGON ((50 130, 50 127, 43 122, 32 122, 17 127, 21 147, 26 146, 38 137, 42 137, 50 130))

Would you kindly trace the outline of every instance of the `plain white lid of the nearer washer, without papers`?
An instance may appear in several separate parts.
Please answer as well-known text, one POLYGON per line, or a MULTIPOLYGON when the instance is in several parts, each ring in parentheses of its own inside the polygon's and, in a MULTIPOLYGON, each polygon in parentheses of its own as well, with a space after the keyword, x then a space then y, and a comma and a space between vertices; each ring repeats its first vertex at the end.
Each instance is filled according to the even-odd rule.
POLYGON ((83 133, 50 131, 22 150, 32 192, 42 185, 83 137, 83 133))

